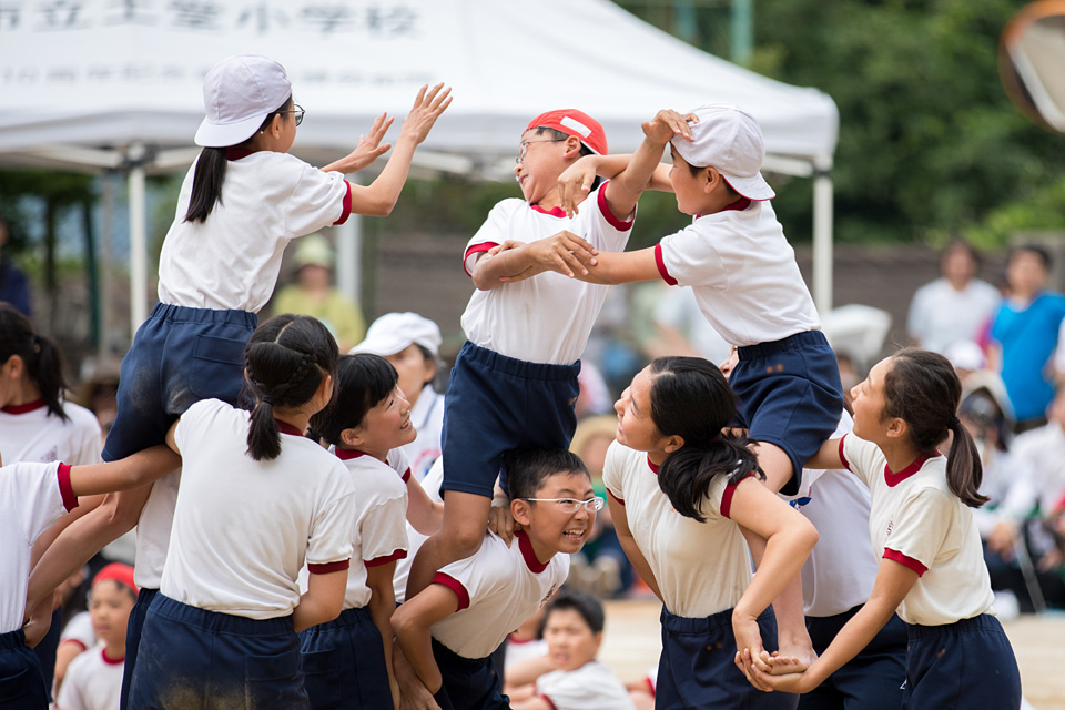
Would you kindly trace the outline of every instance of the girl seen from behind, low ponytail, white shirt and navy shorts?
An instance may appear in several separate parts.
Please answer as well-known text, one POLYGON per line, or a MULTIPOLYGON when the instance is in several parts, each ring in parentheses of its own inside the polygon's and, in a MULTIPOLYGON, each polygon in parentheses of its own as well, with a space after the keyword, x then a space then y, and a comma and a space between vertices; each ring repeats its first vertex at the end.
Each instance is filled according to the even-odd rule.
POLYGON ((296 632, 341 612, 355 525, 351 476, 304 436, 336 362, 320 321, 272 318, 244 351, 254 409, 203 399, 168 434, 181 486, 129 707, 308 707, 296 632))

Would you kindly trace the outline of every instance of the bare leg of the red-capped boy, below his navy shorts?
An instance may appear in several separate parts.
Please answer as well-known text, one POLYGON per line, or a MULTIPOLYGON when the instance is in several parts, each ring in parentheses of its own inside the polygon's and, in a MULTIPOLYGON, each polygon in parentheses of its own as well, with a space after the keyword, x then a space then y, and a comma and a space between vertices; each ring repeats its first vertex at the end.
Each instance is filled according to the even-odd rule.
POLYGON ((444 525, 430 537, 410 565, 407 599, 429 586, 445 565, 466 559, 480 549, 488 529, 491 498, 462 490, 448 490, 444 497, 444 525))

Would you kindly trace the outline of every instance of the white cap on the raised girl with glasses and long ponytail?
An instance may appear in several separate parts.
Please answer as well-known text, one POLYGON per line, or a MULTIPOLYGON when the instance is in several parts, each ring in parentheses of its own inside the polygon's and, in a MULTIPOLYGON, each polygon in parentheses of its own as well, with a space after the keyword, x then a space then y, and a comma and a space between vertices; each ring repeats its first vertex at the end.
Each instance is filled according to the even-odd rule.
POLYGON ((229 148, 243 143, 291 95, 285 68, 274 60, 258 54, 223 59, 203 79, 207 115, 196 131, 196 145, 229 148))

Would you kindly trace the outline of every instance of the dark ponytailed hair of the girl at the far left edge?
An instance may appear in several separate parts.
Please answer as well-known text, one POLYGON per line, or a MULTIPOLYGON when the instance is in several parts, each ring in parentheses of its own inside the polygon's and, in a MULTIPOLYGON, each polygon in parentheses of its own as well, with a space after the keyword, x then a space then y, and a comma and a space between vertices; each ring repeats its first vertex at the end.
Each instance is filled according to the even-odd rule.
POLYGON ((0 305, 0 365, 13 355, 22 359, 22 366, 40 390, 48 413, 69 420, 63 410, 67 378, 59 346, 52 338, 34 333, 29 318, 3 304, 0 305))

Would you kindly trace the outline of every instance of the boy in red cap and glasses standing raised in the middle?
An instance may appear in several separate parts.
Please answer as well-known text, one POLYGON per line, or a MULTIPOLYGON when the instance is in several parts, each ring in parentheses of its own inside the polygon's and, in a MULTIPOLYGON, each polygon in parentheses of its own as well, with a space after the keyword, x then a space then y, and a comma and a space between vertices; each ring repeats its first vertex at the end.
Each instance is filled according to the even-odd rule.
POLYGON ((579 358, 607 295, 604 286, 574 278, 581 267, 572 250, 582 247, 569 233, 596 248, 623 250, 647 182, 633 179, 633 161, 591 190, 585 204, 594 206, 567 216, 559 175, 582 155, 606 152, 602 126, 581 111, 532 119, 514 169, 525 200, 496 204, 466 246, 464 267, 477 291, 463 314, 468 342, 445 397, 444 524, 415 558, 407 599, 443 565, 480 547, 497 475, 506 490, 505 452, 569 446, 579 358), (568 233, 557 236, 562 230, 568 233), (561 273, 506 283, 548 270, 561 273))

